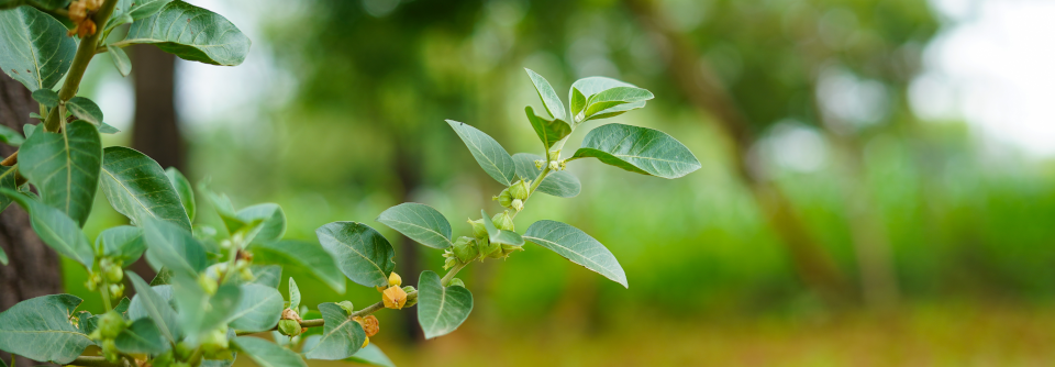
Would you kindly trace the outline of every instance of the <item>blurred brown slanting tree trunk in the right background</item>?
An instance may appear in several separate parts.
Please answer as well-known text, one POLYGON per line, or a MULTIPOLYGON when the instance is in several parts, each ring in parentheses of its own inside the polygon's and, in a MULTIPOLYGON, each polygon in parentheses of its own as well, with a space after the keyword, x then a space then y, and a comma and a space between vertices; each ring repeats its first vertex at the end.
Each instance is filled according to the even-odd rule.
POLYGON ((790 200, 773 181, 752 171, 747 154, 757 136, 753 136, 749 122, 736 109, 735 101, 713 73, 704 69, 699 54, 685 36, 664 26, 666 23, 652 1, 629 0, 628 4, 644 29, 653 32, 660 38, 656 41, 666 46, 666 73, 674 84, 701 112, 713 116, 729 135, 734 145, 732 156, 736 173, 751 188, 769 226, 787 246, 799 277, 829 301, 847 299, 851 292, 844 275, 811 237, 790 200))

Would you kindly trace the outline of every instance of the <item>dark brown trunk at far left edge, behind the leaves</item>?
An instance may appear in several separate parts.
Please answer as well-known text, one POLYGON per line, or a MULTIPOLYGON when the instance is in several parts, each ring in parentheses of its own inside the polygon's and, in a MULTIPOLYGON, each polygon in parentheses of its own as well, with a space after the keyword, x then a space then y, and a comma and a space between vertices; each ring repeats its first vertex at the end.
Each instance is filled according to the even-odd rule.
MULTIPOLYGON (((30 90, 0 74, 0 123, 21 132, 22 125, 31 122, 30 112, 40 112, 30 90)), ((0 154, 4 157, 15 151, 13 146, 0 144, 0 154)), ((58 254, 41 242, 30 226, 30 215, 18 204, 12 203, 0 213, 0 248, 10 260, 7 266, 0 266, 0 311, 34 297, 63 292, 58 254)), ((10 362, 11 355, 0 352, 0 358, 10 362)), ((18 357, 14 365, 30 367, 40 364, 18 357)))

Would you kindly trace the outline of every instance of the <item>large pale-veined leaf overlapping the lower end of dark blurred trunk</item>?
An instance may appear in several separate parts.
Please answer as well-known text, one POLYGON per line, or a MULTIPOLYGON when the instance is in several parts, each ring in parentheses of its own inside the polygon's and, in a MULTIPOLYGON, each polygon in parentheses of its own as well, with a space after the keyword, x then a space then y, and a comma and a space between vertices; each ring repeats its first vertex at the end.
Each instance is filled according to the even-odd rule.
POLYGON ((190 231, 179 193, 162 166, 133 148, 111 146, 102 154, 102 191, 132 224, 162 220, 190 231))

